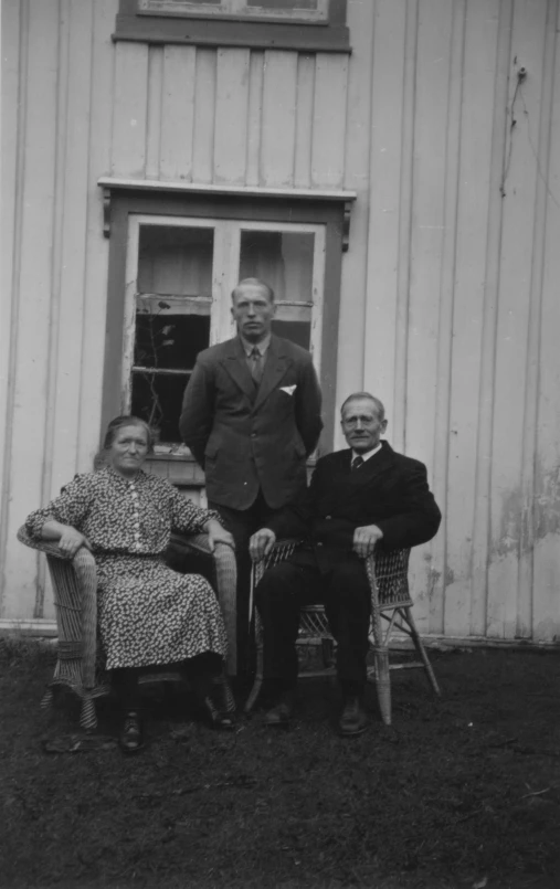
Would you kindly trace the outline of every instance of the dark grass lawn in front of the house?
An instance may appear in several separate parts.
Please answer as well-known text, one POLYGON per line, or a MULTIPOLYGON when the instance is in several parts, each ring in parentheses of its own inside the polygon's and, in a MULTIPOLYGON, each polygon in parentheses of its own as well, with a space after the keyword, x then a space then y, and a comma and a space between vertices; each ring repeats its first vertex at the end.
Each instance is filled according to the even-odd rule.
MULTIPOLYGON (((262 713, 233 734, 193 717, 188 696, 147 690, 146 750, 106 743, 46 753, 80 734, 75 700, 38 703, 53 653, 0 641, 6 889, 558 889, 560 657, 432 655, 392 675, 393 726, 334 732, 338 695, 300 682, 293 729, 262 713), (148 694, 149 692, 149 694, 148 694)), ((102 739, 103 740, 103 739, 102 739)))

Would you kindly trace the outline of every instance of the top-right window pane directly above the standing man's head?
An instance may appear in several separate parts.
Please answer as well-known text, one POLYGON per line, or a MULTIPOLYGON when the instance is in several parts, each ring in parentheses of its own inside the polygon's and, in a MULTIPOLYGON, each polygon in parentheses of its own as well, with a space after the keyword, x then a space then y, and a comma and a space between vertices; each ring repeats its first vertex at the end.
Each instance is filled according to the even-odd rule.
POLYGON ((315 235, 307 232, 241 232, 240 279, 265 281, 277 300, 313 303, 315 235))

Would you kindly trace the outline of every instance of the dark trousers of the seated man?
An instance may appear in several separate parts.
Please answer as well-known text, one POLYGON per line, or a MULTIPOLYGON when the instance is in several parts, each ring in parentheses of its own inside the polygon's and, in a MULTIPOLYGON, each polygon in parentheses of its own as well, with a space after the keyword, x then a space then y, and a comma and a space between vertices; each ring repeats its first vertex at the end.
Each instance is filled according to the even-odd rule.
POLYGON ((263 624, 265 681, 283 689, 295 686, 299 608, 320 603, 338 643, 337 674, 342 690, 363 692, 371 594, 358 557, 342 554, 331 568, 319 570, 313 550, 300 549, 265 572, 255 602, 263 624))

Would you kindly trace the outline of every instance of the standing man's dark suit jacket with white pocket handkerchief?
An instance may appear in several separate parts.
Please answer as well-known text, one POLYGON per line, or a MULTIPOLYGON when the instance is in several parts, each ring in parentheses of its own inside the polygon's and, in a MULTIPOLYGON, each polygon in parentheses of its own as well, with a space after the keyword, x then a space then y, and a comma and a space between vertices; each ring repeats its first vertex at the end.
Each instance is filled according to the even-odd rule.
POLYGON ((241 339, 200 352, 184 391, 181 436, 207 476, 208 499, 249 509, 258 489, 278 509, 306 486, 323 428, 311 356, 273 336, 258 390, 241 339))

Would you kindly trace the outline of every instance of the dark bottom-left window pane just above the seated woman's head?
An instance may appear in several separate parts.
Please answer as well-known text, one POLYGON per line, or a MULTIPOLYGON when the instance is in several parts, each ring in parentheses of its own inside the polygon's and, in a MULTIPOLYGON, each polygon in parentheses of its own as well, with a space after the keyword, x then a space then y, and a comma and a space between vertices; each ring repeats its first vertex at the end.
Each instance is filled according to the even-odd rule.
POLYGON ((179 415, 189 374, 133 373, 131 413, 159 431, 159 441, 180 442, 179 415))

